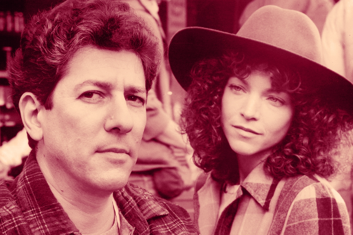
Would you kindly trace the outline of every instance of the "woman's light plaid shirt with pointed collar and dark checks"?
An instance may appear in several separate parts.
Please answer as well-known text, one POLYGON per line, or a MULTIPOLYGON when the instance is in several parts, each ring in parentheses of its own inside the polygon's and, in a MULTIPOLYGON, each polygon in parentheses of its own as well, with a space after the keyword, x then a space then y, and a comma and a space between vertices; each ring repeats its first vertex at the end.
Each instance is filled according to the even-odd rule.
POLYGON ((259 164, 232 193, 233 199, 225 204, 222 185, 210 174, 199 185, 195 221, 201 235, 212 235, 221 212, 240 197, 231 235, 351 235, 342 197, 317 175, 275 180, 265 175, 263 164, 259 164))

